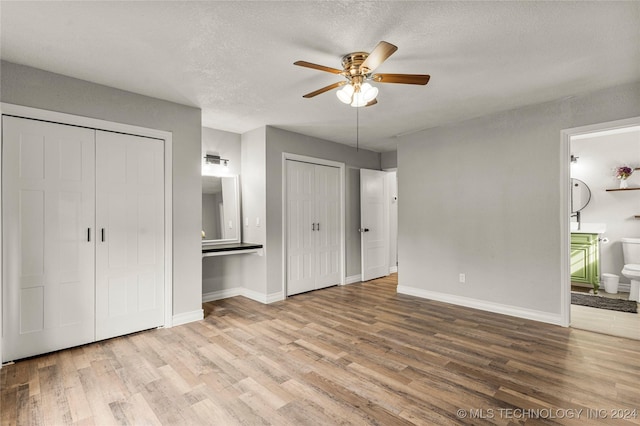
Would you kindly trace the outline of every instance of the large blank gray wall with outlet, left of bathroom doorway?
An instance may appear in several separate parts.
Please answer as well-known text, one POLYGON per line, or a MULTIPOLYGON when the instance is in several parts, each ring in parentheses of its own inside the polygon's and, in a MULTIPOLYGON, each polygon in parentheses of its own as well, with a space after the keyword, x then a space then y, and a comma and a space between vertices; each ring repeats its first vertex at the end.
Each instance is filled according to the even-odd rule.
POLYGON ((560 132, 634 116, 640 83, 399 140, 399 285, 559 314, 560 132))

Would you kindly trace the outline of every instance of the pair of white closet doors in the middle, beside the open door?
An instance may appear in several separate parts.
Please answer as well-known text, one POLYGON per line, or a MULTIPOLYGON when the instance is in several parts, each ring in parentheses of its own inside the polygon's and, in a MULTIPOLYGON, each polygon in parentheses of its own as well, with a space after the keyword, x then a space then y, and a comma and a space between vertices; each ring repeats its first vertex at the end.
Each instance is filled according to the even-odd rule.
POLYGON ((287 160, 287 295, 340 283, 340 170, 287 160))

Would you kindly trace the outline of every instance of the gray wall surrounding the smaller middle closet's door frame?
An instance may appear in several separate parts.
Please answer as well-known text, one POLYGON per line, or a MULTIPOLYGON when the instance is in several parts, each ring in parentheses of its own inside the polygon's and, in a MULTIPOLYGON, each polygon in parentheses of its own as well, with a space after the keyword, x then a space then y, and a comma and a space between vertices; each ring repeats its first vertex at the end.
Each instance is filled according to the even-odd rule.
MULTIPOLYGON (((282 274, 282 154, 306 155, 345 163, 347 168, 346 215, 349 219, 346 229, 346 269, 347 276, 360 273, 360 250, 355 245, 360 244, 358 234, 359 220, 353 223, 355 212, 360 214, 360 178, 353 168, 367 168, 380 170, 380 154, 373 151, 355 148, 329 142, 298 133, 267 126, 267 294, 282 291, 284 280, 282 274), (353 193, 357 176, 357 197, 353 193), (354 256, 358 253, 357 257, 354 256)), ((243 171, 244 172, 244 171, 243 171)))

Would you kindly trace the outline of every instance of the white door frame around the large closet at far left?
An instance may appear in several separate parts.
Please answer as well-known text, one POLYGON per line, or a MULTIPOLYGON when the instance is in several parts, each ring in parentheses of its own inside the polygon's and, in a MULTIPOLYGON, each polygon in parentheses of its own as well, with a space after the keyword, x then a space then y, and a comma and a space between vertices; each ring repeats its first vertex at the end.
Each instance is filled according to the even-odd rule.
MULTIPOLYGON (((87 127, 108 132, 126 133, 134 136, 142 136, 164 141, 164 327, 173 326, 173 133, 164 130, 150 129, 147 127, 133 126, 130 124, 116 123, 97 118, 83 117, 79 115, 43 110, 9 103, 0 103, 0 117, 2 115, 20 118, 49 121, 53 123, 71 126, 87 127)), ((2 120, 0 120, 0 137, 2 135, 2 120)), ((1 144, 0 144, 1 146, 1 144)), ((1 172, 0 149, 0 172, 1 172)), ((0 200, 2 199, 2 178, 0 173, 0 200)), ((0 210, 0 223, 2 212, 0 210)), ((0 226, 0 241, 2 239, 0 226)), ((0 260, 2 259, 2 245, 0 244, 0 260)), ((0 331, 2 330, 2 262, 0 261, 0 331)), ((0 353, 2 339, 0 339, 0 353)))

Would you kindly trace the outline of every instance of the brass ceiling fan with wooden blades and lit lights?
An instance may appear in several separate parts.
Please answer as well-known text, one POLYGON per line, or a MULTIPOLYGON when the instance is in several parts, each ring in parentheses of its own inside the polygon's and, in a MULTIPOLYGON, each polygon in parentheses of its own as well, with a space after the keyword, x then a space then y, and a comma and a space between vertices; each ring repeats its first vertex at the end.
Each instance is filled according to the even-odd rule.
POLYGON ((386 41, 381 41, 371 51, 353 52, 342 57, 342 69, 325 67, 324 65, 313 64, 306 61, 296 61, 293 64, 306 68, 313 68, 320 71, 339 74, 345 80, 330 84, 322 89, 303 95, 303 98, 313 98, 329 90, 342 89, 336 92, 338 99, 353 107, 363 107, 375 105, 378 101, 378 88, 372 86, 369 81, 376 83, 400 83, 425 85, 429 82, 430 76, 427 74, 373 74, 373 71, 389 58, 396 50, 397 46, 386 41))

